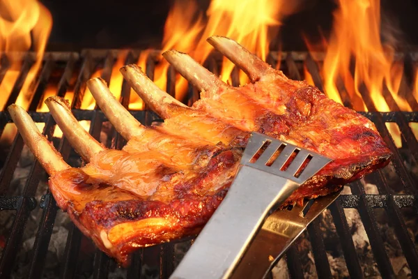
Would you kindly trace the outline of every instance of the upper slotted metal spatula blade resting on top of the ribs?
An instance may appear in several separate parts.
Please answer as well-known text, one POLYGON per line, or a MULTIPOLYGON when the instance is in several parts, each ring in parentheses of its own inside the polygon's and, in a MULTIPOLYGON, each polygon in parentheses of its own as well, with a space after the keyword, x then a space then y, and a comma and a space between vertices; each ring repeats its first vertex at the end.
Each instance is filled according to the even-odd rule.
POLYGON ((228 194, 170 278, 229 278, 265 217, 330 161, 252 133, 228 194))

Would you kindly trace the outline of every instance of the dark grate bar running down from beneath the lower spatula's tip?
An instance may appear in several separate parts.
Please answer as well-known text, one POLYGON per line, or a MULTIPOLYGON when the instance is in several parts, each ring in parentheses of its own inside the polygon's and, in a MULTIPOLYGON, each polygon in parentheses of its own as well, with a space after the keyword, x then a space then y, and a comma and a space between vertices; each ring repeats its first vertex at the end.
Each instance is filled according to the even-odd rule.
POLYGON ((350 227, 348 227, 346 214, 344 213, 344 209, 339 200, 332 203, 329 209, 331 211, 332 220, 334 220, 336 232, 341 240, 340 243, 343 248, 344 259, 346 259, 346 266, 348 273, 350 273, 350 277, 364 278, 357 252, 355 252, 353 236, 351 235, 350 227))

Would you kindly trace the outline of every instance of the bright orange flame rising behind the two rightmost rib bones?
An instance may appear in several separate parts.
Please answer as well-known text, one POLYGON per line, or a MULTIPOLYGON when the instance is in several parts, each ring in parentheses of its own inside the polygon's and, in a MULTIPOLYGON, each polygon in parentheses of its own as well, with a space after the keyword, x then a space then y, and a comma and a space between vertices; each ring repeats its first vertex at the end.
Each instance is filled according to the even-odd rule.
MULTIPOLYGON (((281 18, 293 13, 299 1, 222 1, 212 0, 203 17, 194 0, 174 2, 164 26, 162 50, 176 49, 187 52, 199 63, 203 63, 213 48, 206 39, 212 35, 228 36, 245 45, 251 52, 265 60, 270 40, 276 35, 281 18)), ((146 56, 139 59, 145 66, 146 56)), ((221 78, 229 80, 233 63, 224 59, 221 78)), ((167 86, 169 64, 164 59, 155 66, 155 83, 161 89, 167 86)), ((240 83, 248 82, 242 72, 240 83)), ((230 80, 229 80, 230 81, 230 80)), ((187 82, 176 75, 176 98, 181 99, 187 91, 187 82)))

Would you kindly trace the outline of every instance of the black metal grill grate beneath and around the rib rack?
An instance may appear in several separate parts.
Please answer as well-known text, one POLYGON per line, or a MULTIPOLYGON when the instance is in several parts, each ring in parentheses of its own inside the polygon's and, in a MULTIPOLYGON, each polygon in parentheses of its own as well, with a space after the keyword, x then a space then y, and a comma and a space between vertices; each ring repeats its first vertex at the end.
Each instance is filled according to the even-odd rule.
MULTIPOLYGON (((98 68, 102 69, 102 78, 106 82, 111 80, 111 70, 116 60, 116 51, 94 51, 86 50, 81 54, 77 53, 48 53, 45 55, 45 61, 42 66, 42 70, 36 82, 33 83, 33 98, 29 104, 29 114, 33 120, 37 123, 45 123, 43 129, 43 135, 46 135, 50 140, 53 140, 53 133, 55 128, 54 119, 49 113, 36 112, 36 108, 43 99, 45 89, 49 84, 52 74, 55 69, 61 69, 61 79, 58 82, 56 95, 65 96, 65 93, 70 89, 74 91, 72 110, 75 117, 79 120, 91 121, 90 133, 97 140, 100 139, 100 132, 107 119, 100 110, 80 110, 82 99, 84 98, 84 91, 86 89, 86 80, 93 74, 94 70, 98 68), (77 77, 75 80, 73 77, 77 77)), ((146 61, 146 73, 148 77, 153 79, 154 69, 157 63, 155 55, 153 53, 148 55, 146 61)), ((139 52, 131 51, 127 54, 125 59, 126 63, 136 63, 139 58, 139 52)), ((285 73, 293 80, 302 79, 302 64, 305 61, 307 70, 311 74, 314 83, 319 89, 323 90, 323 82, 320 79, 318 63, 308 55, 289 53, 286 58, 283 59, 284 63, 281 64, 281 68, 284 68, 285 73), (306 60, 304 60, 306 59, 306 60)), ((268 62, 275 66, 277 64, 277 57, 274 58, 273 54, 269 54, 268 62)), ((0 59, 0 82, 6 75, 8 70, 8 59, 6 56, 1 56, 0 59)), ((31 65, 33 64, 33 55, 26 54, 23 60, 23 66, 20 75, 15 81, 12 93, 6 102, 6 106, 15 103, 17 96, 22 89, 22 84, 29 72, 31 65)), ((219 58, 216 55, 210 56, 204 64, 213 73, 219 73, 219 58)), ((175 77, 176 71, 173 68, 169 68, 167 72, 167 92, 172 96, 175 94, 175 77)), ((231 73, 231 80, 234 86, 239 85, 239 70, 234 68, 231 73)), ((406 81, 403 81, 406 82, 406 81)), ((342 84, 342 83, 341 83, 342 84)), ((354 100, 351 100, 346 90, 343 89, 343 85, 339 84, 341 92, 341 98, 344 105, 353 107, 354 100)), ((412 96, 412 94, 410 94, 412 96)), ((385 241, 379 232, 378 222, 376 216, 373 213, 373 209, 384 209, 388 216, 389 225, 394 228, 396 233, 396 239, 398 239, 403 255, 412 276, 418 276, 418 255, 417 255, 417 243, 414 243, 408 227, 405 225, 405 220, 401 213, 401 209, 410 208, 418 216, 418 186, 416 177, 412 176, 412 171, 405 165, 405 156, 401 154, 401 150, 407 151, 406 158, 412 162, 412 165, 417 166, 418 160, 418 142, 415 135, 412 133, 410 126, 411 122, 418 122, 418 105, 414 98, 407 98, 408 103, 415 112, 399 112, 399 108, 394 102, 392 95, 387 91, 384 92, 385 100, 389 104, 391 110, 394 112, 376 112, 376 107, 368 97, 367 92, 362 92, 362 97, 366 107, 371 112, 361 112, 363 115, 371 119, 376 123, 380 134, 394 152, 394 158, 389 165, 393 167, 398 181, 392 181, 388 178, 386 170, 382 169, 378 172, 370 174, 366 177, 370 183, 376 184, 378 188, 378 195, 370 195, 366 193, 364 186, 361 182, 356 181, 350 184, 351 195, 341 195, 339 199, 330 206, 329 210, 332 215, 332 220, 336 228, 336 233, 339 236, 339 242, 343 251, 343 257, 345 258, 348 273, 352 278, 363 278, 364 271, 360 264, 359 256, 357 255, 355 243, 353 242, 352 233, 350 232, 350 226, 346 218, 344 209, 357 209, 359 216, 366 230, 366 234, 369 238, 371 250, 373 251, 374 259, 378 266, 380 275, 383 277, 393 278, 396 276, 394 268, 389 259, 387 250, 385 249, 385 241), (392 98, 392 99, 391 99, 392 98), (402 149, 397 149, 392 137, 385 126, 385 123, 396 123, 401 131, 402 149), (394 186, 396 184, 396 186, 394 186)), ((195 100, 199 98, 199 93, 192 86, 188 87, 187 96, 185 100, 182 100, 188 105, 192 105, 195 100)), ((121 86, 121 103, 128 107, 130 100, 130 86, 127 82, 123 82, 121 86)), ((141 123, 150 125, 153 121, 160 121, 156 114, 148 110, 144 111, 132 111, 132 114, 141 123)), ((6 112, 0 112, 0 134, 6 127, 6 124, 10 123, 10 117, 6 112)), ((108 131, 109 140, 104 142, 107 147, 121 149, 125 144, 123 138, 116 133, 114 128, 110 128, 108 131)), ((54 139, 57 149, 62 154, 64 160, 68 160, 72 156, 72 148, 65 138, 60 140, 54 139)), ((13 144, 11 144, 6 160, 4 160, 2 172, 0 174, 0 213, 6 211, 15 211, 15 218, 13 225, 10 227, 5 246, 1 252, 0 257, 0 278, 8 278, 13 272, 13 266, 17 261, 17 254, 22 248, 22 239, 26 223, 28 222, 31 211, 38 206, 42 209, 42 217, 38 223, 38 230, 33 232, 36 236, 33 243, 33 248, 29 255, 29 271, 25 274, 25 278, 42 278, 42 272, 46 264, 46 255, 48 251, 49 242, 51 240, 52 231, 56 223, 56 216, 59 209, 56 206, 54 198, 47 190, 46 193, 42 193, 41 198, 37 201, 38 184, 42 179, 45 179, 45 172, 40 164, 35 161, 31 165, 28 179, 24 186, 21 195, 13 196, 8 195, 10 190, 10 183, 13 179, 13 173, 17 167, 17 163, 20 160, 22 149, 24 147, 22 137, 16 135, 13 144)), ((79 166, 79 165, 78 165, 79 166)), ((320 220, 315 220, 308 227, 309 241, 311 242, 312 253, 314 256, 314 262, 316 272, 320 278, 331 278, 332 271, 330 268, 330 262, 327 259, 327 251, 323 235, 320 228, 320 220)), ((415 240, 417 241, 417 240, 415 240)), ((191 241, 189 241, 189 244, 191 241)), ((84 265, 84 258, 86 257, 81 252, 81 249, 86 246, 84 236, 79 230, 72 224, 67 236, 67 242, 65 244, 65 251, 63 252, 63 258, 60 262, 59 274, 61 278, 74 278, 80 276, 84 265)), ((100 250, 95 250, 93 266, 90 266, 88 270, 93 273, 93 278, 107 278, 109 266, 114 265, 114 262, 104 255, 100 250)), ((157 265, 159 266, 159 274, 157 277, 168 278, 175 268, 175 252, 173 243, 163 244, 161 246, 154 246, 138 250, 134 253, 133 264, 126 270, 121 269, 121 272, 126 278, 139 278, 142 271, 142 266, 145 265, 157 265)), ((302 272, 302 263, 299 252, 295 246, 292 246, 286 253, 286 262, 288 273, 292 278, 299 278, 304 276, 302 272)), ((154 274, 155 275, 155 274, 154 274)))

